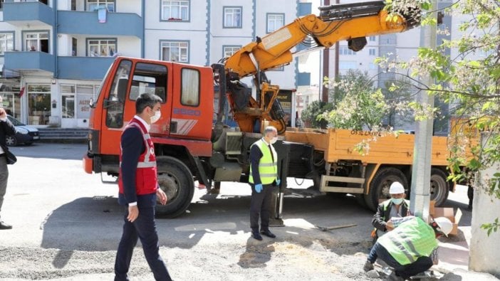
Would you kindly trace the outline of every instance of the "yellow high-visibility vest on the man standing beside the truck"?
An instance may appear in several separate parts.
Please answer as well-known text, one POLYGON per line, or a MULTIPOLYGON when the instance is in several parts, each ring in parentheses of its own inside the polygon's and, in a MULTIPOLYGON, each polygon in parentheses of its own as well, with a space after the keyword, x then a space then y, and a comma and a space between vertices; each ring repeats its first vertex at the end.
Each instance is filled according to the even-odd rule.
MULTIPOLYGON (((272 145, 270 146, 271 150, 269 150, 269 144, 267 144, 264 139, 259 139, 254 142, 251 147, 254 145, 259 147, 262 153, 262 157, 259 161, 259 176, 261 176, 261 183, 272 184, 278 178, 278 154, 276 154, 276 150, 274 150, 272 145), (271 151, 273 152, 272 156, 271 151)), ((249 183, 254 184, 254 176, 252 176, 251 165, 249 183)))

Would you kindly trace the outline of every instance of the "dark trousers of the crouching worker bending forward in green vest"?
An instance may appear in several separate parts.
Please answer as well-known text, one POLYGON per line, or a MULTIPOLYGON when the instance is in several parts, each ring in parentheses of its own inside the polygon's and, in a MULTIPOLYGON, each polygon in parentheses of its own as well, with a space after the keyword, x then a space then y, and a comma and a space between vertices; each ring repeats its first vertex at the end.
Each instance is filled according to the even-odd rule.
POLYGON ((377 258, 380 258, 380 260, 383 260, 387 263, 387 265, 394 268, 397 276, 405 279, 408 279, 413 275, 417 275, 420 272, 424 272, 432 267, 432 259, 429 257, 420 257, 415 260, 415 263, 410 263, 410 265, 401 265, 400 263, 397 263, 397 261, 392 258, 392 255, 390 255, 390 253, 387 252, 387 250, 385 250, 385 248, 379 243, 375 243, 375 245, 373 245, 372 250, 370 250, 370 254, 368 255, 370 263, 375 263, 377 258))

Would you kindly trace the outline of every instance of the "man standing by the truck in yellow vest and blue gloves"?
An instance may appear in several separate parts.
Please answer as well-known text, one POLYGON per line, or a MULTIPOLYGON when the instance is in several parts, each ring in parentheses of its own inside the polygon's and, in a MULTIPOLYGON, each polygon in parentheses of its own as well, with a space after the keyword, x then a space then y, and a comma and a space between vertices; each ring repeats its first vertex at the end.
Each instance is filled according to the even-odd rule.
POLYGON ((273 144, 278 140, 278 131, 269 126, 264 129, 264 137, 254 142, 250 147, 250 174, 251 186, 250 201, 250 228, 251 235, 256 240, 262 240, 262 235, 276 238, 269 230, 269 216, 271 216, 271 198, 274 186, 279 186, 278 154, 273 144), (259 214, 261 229, 259 232, 259 214))

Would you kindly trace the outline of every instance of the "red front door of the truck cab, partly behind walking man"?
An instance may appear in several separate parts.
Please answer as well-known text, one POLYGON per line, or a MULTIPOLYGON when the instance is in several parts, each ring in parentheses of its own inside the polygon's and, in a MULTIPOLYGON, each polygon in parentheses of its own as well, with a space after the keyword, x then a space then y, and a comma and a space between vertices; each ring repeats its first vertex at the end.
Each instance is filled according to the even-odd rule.
POLYGON ((150 92, 162 98, 160 111, 162 117, 151 128, 151 132, 168 136, 172 99, 168 97, 167 74, 172 63, 150 63, 123 59, 115 72, 113 83, 104 100, 105 112, 100 137, 101 152, 120 154, 120 137, 123 129, 135 115, 135 100, 144 92, 150 92))

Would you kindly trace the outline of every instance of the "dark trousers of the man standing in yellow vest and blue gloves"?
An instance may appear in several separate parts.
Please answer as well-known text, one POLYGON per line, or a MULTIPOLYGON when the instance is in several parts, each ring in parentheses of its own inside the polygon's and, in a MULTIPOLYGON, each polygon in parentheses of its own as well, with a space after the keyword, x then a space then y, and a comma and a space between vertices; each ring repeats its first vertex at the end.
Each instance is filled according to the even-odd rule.
POLYGON ((253 232, 259 232, 259 213, 261 216, 261 230, 269 230, 269 217, 271 216, 271 198, 274 186, 264 184, 260 193, 255 191, 255 185, 251 186, 250 201, 250 228, 253 232))

